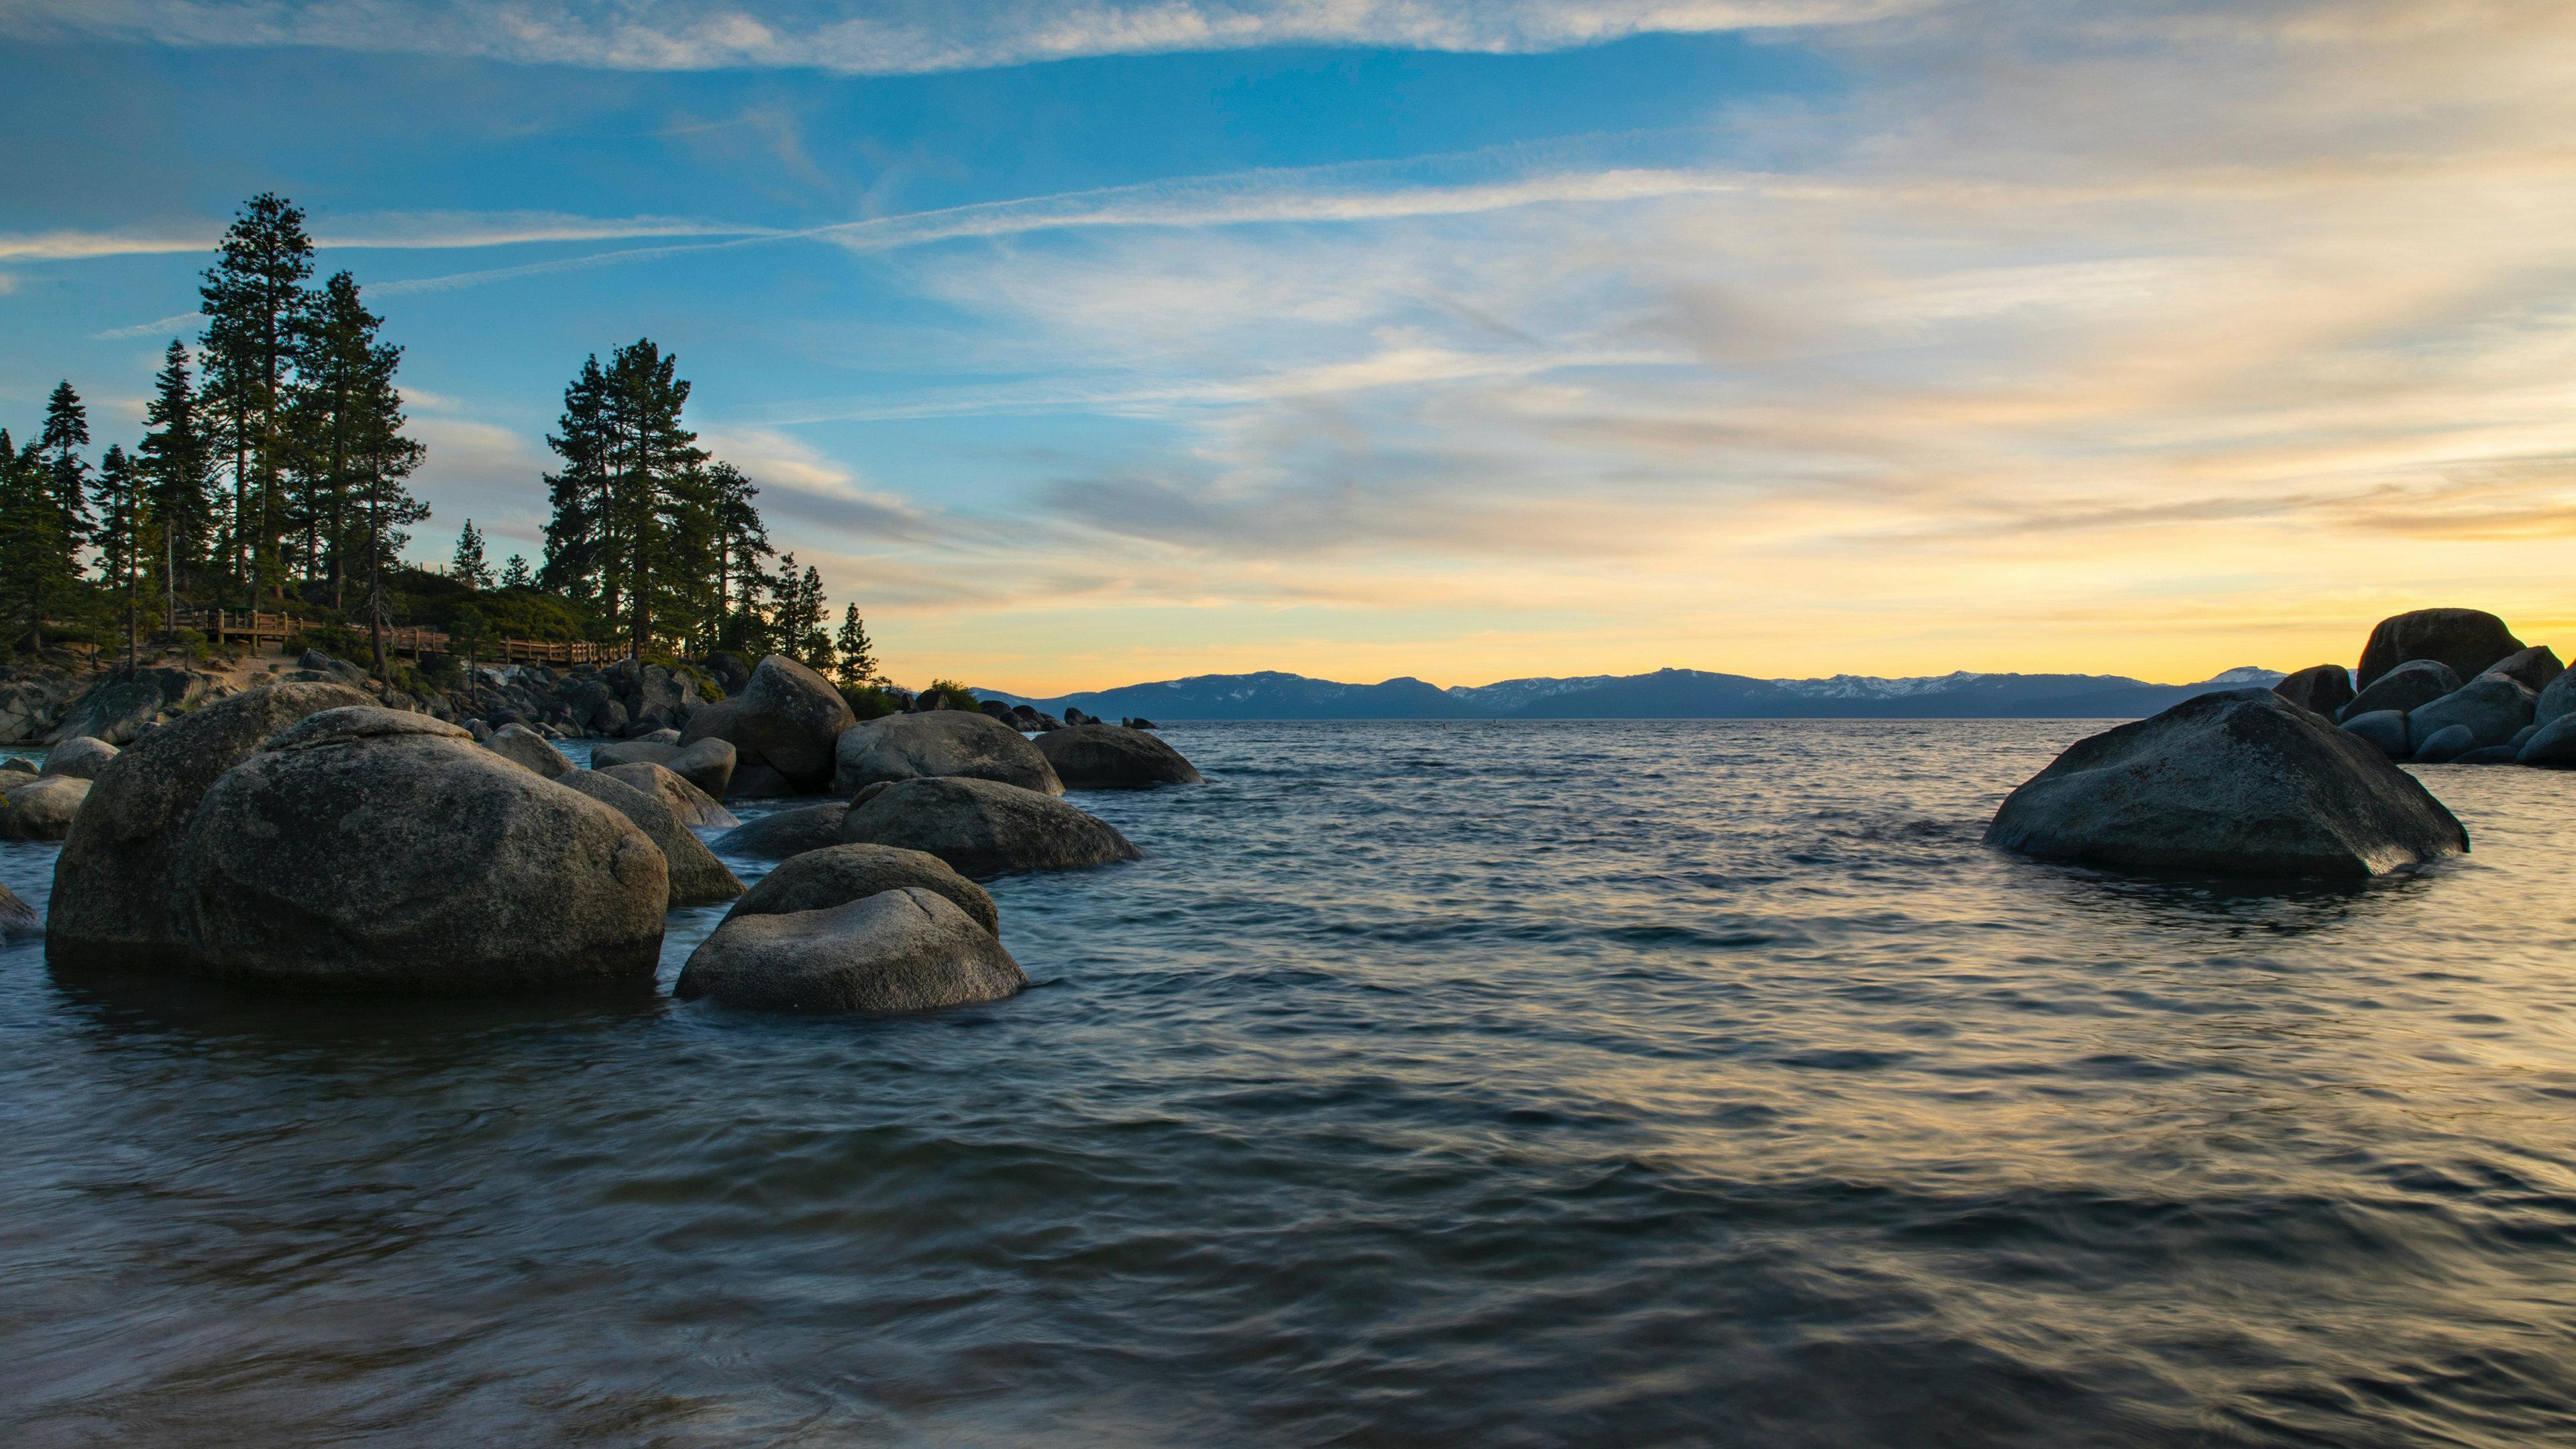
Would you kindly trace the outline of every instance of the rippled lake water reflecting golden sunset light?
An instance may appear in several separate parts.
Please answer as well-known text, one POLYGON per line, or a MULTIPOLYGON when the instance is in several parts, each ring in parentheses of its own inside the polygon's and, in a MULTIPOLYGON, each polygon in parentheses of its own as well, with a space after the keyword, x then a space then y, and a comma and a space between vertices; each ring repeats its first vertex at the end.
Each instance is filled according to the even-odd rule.
POLYGON ((2424 771, 2476 856, 2365 890, 1978 846, 2099 727, 1172 727, 1074 797, 1146 861, 994 884, 1041 987, 917 1018, 10 946, 0 1421, 2576 1441, 2576 776, 2424 771))

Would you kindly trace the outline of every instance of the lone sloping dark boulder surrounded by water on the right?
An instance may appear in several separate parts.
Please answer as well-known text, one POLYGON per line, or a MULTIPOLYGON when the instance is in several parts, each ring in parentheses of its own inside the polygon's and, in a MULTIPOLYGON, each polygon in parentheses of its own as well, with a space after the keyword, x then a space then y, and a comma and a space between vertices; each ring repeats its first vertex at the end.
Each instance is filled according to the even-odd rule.
POLYGON ((2097 866, 2375 877, 2468 851, 2468 830, 2349 730, 2231 688, 2076 740, 2004 799, 1986 843, 2097 866))

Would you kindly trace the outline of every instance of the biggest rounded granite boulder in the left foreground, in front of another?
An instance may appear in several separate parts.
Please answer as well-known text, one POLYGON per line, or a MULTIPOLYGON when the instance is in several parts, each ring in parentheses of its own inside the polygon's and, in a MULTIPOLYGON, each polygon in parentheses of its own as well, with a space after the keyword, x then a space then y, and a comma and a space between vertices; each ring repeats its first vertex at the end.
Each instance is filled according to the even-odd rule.
POLYGON ((201 969, 307 990, 649 982, 670 897, 626 815, 374 706, 314 714, 224 771, 175 874, 201 969))

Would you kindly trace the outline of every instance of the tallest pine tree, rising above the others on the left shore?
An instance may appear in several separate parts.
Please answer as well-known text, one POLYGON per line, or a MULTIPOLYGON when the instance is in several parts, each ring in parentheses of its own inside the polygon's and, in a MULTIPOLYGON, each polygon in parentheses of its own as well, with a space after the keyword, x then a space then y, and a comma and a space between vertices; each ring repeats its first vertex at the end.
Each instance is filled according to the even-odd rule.
POLYGON ((209 405, 232 451, 232 572, 245 590, 270 583, 283 593, 286 387, 309 312, 304 281, 314 273, 304 211, 260 193, 232 219, 219 258, 198 289, 209 405))

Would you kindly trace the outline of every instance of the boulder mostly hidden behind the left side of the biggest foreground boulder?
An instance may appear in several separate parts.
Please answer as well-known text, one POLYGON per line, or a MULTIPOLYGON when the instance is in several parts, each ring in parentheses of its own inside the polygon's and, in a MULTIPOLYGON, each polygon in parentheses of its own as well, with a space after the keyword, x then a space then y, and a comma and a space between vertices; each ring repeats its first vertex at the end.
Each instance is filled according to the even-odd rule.
POLYGON ((270 683, 216 699, 126 745, 98 771, 54 861, 46 959, 173 964, 183 946, 173 864, 206 789, 278 730, 350 704, 374 701, 343 683, 270 683))

